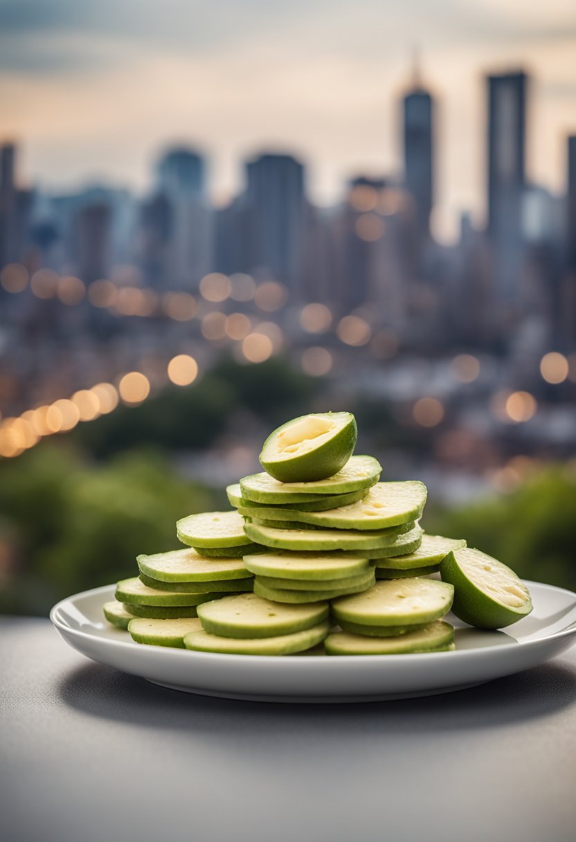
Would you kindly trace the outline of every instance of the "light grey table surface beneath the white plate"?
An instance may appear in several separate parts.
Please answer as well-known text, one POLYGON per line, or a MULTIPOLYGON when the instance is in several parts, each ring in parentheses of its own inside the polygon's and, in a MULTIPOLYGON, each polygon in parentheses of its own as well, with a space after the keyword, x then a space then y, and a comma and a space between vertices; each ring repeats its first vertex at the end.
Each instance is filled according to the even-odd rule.
POLYGON ((573 842, 576 647, 472 690, 275 705, 164 690, 0 621, 9 842, 573 842))

